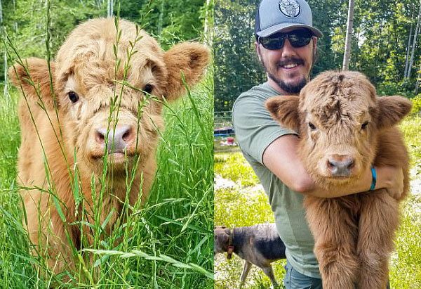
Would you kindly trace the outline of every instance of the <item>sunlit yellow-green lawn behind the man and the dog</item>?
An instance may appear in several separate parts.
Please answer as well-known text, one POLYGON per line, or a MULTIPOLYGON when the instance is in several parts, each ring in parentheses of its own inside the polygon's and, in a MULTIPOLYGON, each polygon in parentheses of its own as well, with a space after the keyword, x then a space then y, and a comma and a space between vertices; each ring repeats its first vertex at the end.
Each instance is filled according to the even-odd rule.
MULTIPOLYGON (((401 226, 390 266, 392 288, 421 288, 421 118, 408 117, 401 124, 412 160, 411 195, 403 203, 401 226)), ((251 226, 272 222, 265 192, 241 153, 215 155, 215 226, 251 226)), ((284 261, 272 264, 282 287, 284 261)), ((238 288, 243 260, 215 257, 215 288, 238 288)), ((245 288, 269 288, 269 278, 256 266, 245 288)))

